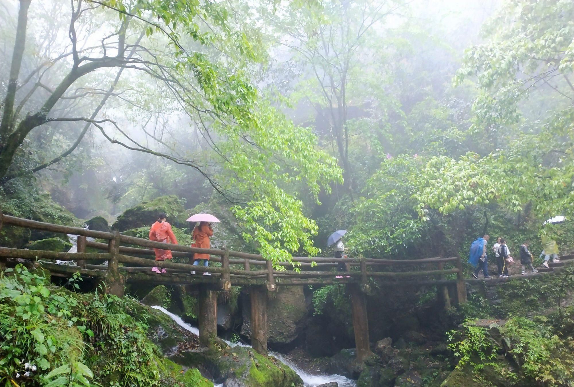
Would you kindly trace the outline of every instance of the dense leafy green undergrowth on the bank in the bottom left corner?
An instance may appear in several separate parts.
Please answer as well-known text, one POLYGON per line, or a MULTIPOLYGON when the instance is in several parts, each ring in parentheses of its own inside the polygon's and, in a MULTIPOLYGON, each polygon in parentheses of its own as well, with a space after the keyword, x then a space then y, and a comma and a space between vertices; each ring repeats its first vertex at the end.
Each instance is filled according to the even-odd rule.
POLYGON ((146 338, 145 316, 127 313, 129 299, 76 294, 18 265, 0 273, 0 300, 2 385, 184 385, 146 338))

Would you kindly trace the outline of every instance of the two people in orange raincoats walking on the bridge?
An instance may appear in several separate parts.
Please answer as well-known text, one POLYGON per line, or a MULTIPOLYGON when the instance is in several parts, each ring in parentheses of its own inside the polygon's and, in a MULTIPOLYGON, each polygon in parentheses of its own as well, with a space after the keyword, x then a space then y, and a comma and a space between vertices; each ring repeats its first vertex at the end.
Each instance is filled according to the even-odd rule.
MULTIPOLYGON (((192 237, 194 243, 192 247, 199 247, 202 249, 208 249, 211 247, 210 238, 213 236, 214 230, 211 228, 210 222, 199 222, 192 232, 192 237)), ((149 230, 149 240, 161 242, 161 243, 171 243, 178 244, 177 238, 172 230, 172 225, 167 222, 167 217, 165 214, 159 214, 157 221, 154 222, 152 228, 149 230)), ((156 253, 156 261, 165 261, 166 259, 172 259, 172 252, 170 250, 164 249, 153 249, 156 253)), ((209 254, 194 253, 193 254, 193 265, 199 265, 200 261, 203 261, 203 265, 207 267, 210 260, 209 254)), ((158 267, 152 267, 152 271, 156 273, 165 273, 165 269, 160 269, 158 267)), ((191 272, 195 274, 195 271, 191 272)), ((211 275, 208 272, 204 272, 203 275, 211 275)))

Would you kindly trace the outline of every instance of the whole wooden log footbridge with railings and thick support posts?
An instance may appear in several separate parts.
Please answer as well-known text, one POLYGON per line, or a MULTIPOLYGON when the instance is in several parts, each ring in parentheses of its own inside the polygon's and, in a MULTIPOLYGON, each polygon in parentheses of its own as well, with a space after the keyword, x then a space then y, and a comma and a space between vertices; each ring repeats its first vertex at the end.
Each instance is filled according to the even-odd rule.
POLYGON ((371 281, 376 281, 378 286, 437 286, 437 297, 445 305, 451 304, 451 300, 452 303, 464 303, 467 300, 460 257, 417 260, 293 257, 293 262, 273 263, 257 254, 165 244, 126 236, 118 231, 102 232, 49 224, 0 212, 0 230, 2 226, 7 225, 52 233, 75 234, 78 236, 77 253, 0 247, 2 266, 25 260, 29 266, 41 265, 53 276, 69 277, 79 272, 83 276, 103 282, 106 292, 118 296, 123 296, 126 283, 178 284, 197 288, 199 341, 204 346, 212 345, 217 335, 216 292, 230 290, 231 286, 248 287, 251 299, 251 345, 259 353, 266 354, 269 292, 276 291, 278 286, 344 284, 351 296, 356 355, 359 361, 370 354, 365 294, 370 291, 371 281), (107 243, 88 241, 87 237, 107 243), (88 247, 104 252, 86 252, 88 247), (150 248, 169 249, 174 258, 183 257, 190 262, 193 261, 193 253, 207 253, 212 256, 211 262, 221 265, 203 267, 193 266, 191 263, 144 258, 154 256, 150 248), (61 265, 53 260, 76 261, 76 265, 61 265), (339 263, 346 263, 348 267, 356 269, 347 272, 328 271, 328 268, 335 267, 339 263), (167 272, 154 273, 150 270, 154 266, 165 268, 167 272), (429 266, 434 268, 429 269, 429 266), (399 269, 393 270, 394 268, 399 269), (191 271, 210 272, 211 276, 192 275, 191 271), (350 277, 336 279, 336 275, 350 277), (447 279, 446 276, 453 278, 447 279))

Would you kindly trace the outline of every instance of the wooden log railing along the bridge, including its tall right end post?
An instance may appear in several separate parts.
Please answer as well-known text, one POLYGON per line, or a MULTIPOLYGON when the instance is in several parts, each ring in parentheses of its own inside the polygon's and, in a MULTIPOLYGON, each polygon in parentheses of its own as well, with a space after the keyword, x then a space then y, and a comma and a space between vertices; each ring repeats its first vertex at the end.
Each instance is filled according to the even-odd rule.
POLYGON ((147 239, 123 235, 118 231, 102 232, 71 226, 49 224, 5 215, 0 212, 0 229, 2 226, 19 226, 29 229, 44 230, 53 233, 75 234, 77 239, 77 253, 33 251, 27 249, 14 249, 0 247, 0 259, 8 257, 28 260, 61 260, 77 262, 78 267, 65 267, 54 263, 42 263, 51 271, 71 273, 80 271, 83 274, 94 277, 106 277, 106 281, 113 281, 116 277, 134 282, 153 281, 156 283, 218 283, 220 288, 228 290, 231 284, 234 286, 247 286, 265 284, 267 290, 274 291, 277 284, 281 285, 307 285, 307 284, 341 284, 360 283, 363 290, 368 290, 370 278, 382 278, 387 281, 382 284, 392 286, 409 286, 410 284, 436 284, 440 286, 454 286, 456 284, 459 299, 464 290, 466 300, 466 288, 462 273, 462 263, 459 257, 435 257, 416 260, 388 260, 388 259, 342 259, 325 257, 293 257, 292 262, 276 262, 266 260, 263 256, 252 253, 232 251, 228 249, 203 249, 177 244, 165 244, 147 239), (86 238, 107 240, 107 243, 88 241, 86 238), (135 245, 127 247, 122 244, 135 245), (86 249, 94 248, 99 253, 88 253, 86 249), (153 256, 152 248, 160 248, 172 251, 174 257, 188 257, 192 260, 194 253, 207 253, 211 255, 211 261, 221 263, 221 267, 203 267, 191 263, 176 263, 172 261, 155 261, 139 256, 153 256), (107 267, 102 265, 87 264, 86 261, 96 263, 107 262, 107 267), (346 263, 350 267, 358 267, 358 271, 345 272, 325 271, 324 268, 332 267, 339 263, 346 263), (453 268, 444 268, 445 264, 452 264, 453 268), (119 265, 123 264, 123 266, 119 265), (138 265, 139 267, 135 267, 138 265), (233 265, 233 266, 232 266, 233 265), (240 265, 238 268, 237 265, 240 265), (436 269, 414 269, 409 271, 381 271, 381 267, 408 267, 412 265, 433 265, 436 269), (168 275, 154 275, 149 268, 160 267, 169 269, 168 275), (254 269, 255 268, 255 269, 254 269), (322 269, 322 270, 321 270, 322 269), (379 269, 379 270, 375 270, 379 269), (209 272, 209 276, 193 276, 191 271, 198 273, 209 272), (445 275, 456 273, 455 279, 445 279, 445 275), (343 276, 335 279, 335 275, 343 276), (346 276, 350 276, 346 278, 346 276), (431 280, 405 280, 410 277, 436 277, 431 280), (393 280, 394 279, 394 280, 393 280), (390 280, 390 281, 389 281, 390 280))

